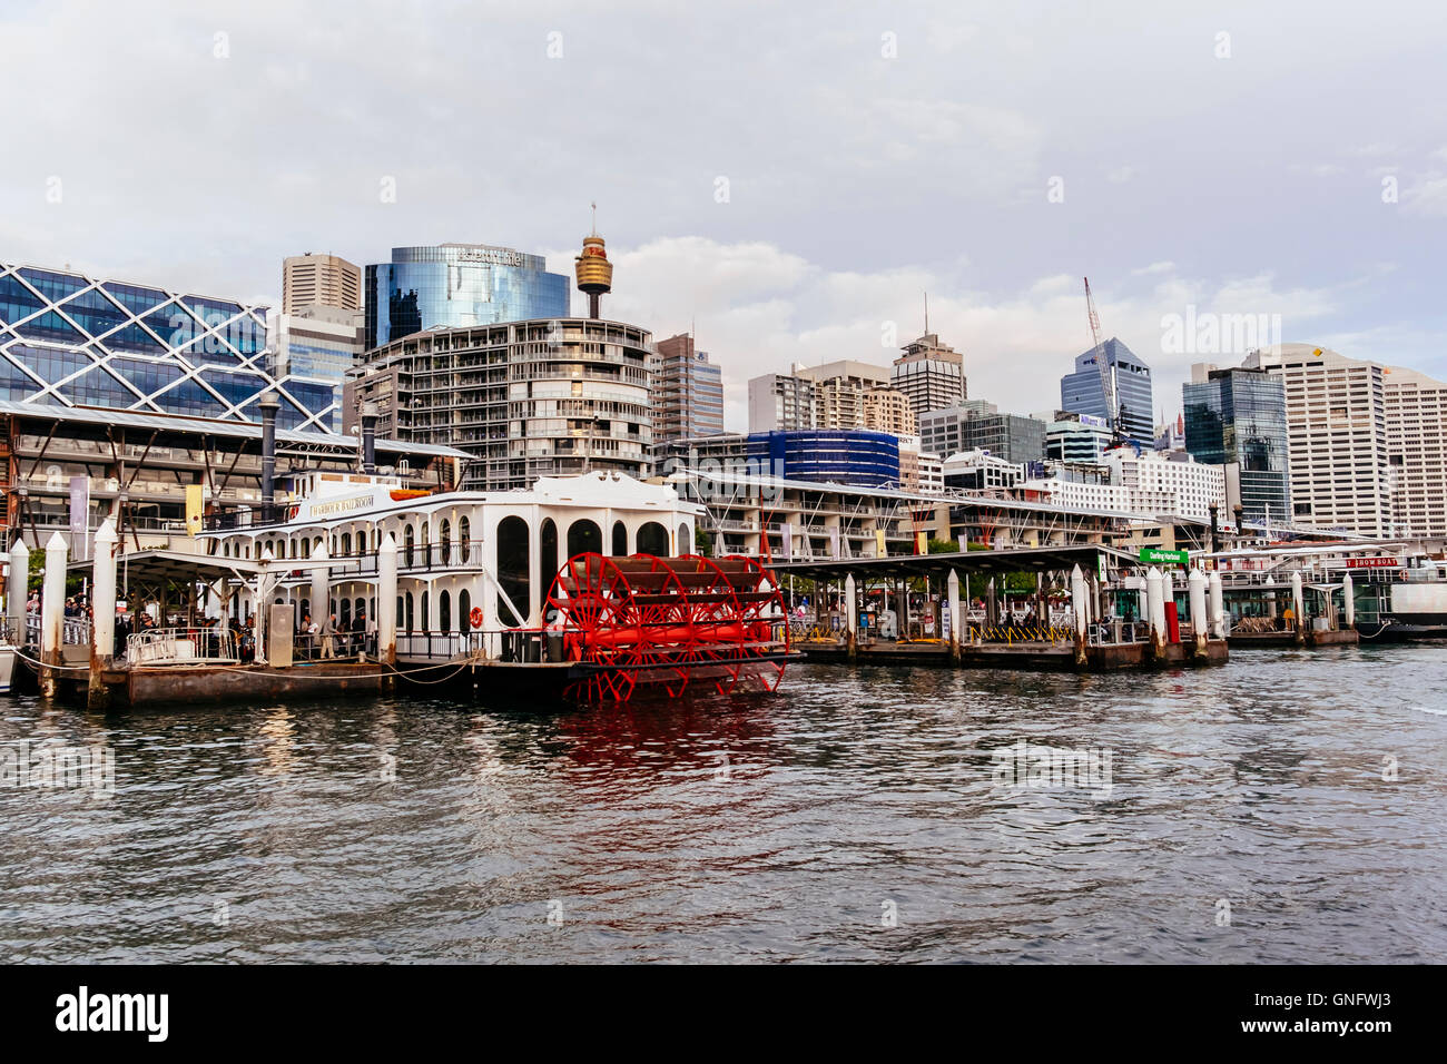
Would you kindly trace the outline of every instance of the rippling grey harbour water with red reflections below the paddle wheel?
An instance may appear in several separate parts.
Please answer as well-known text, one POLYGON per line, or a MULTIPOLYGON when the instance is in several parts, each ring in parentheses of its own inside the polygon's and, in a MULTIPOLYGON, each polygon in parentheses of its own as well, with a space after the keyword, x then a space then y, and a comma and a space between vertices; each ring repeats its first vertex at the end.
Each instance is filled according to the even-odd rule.
POLYGON ((1444 692, 1434 644, 587 711, 9 699, 0 748, 114 769, 0 788, 0 960, 1441 963, 1444 692), (1094 774, 1001 770, 1040 746, 1094 774))

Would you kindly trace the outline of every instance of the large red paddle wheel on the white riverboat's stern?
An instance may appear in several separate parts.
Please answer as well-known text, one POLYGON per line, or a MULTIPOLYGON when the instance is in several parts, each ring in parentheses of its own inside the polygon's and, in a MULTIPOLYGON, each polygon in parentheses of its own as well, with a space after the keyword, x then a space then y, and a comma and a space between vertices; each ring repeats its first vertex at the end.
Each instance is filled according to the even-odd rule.
POLYGON ((790 654, 784 598, 748 557, 577 554, 547 609, 580 673, 567 693, 582 702, 625 702, 640 688, 677 698, 697 683, 774 691, 790 654))

